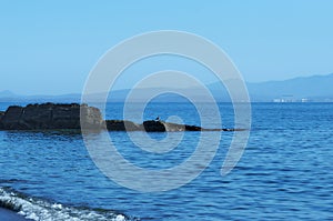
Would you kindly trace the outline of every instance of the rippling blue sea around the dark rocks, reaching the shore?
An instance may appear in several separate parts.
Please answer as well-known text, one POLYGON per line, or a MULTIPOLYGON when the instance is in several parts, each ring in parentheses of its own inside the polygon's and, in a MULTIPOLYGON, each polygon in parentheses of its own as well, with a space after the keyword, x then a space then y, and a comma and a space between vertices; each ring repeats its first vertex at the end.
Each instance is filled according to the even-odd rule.
MULTIPOLYGON (((0 110, 10 104, 0 103, 0 110)), ((232 106, 219 108, 223 128, 233 128, 232 106)), ((104 115, 122 119, 122 109, 123 103, 108 103, 104 115)), ((143 119, 157 115, 200 125, 195 107, 186 102, 148 104, 143 119)), ((184 132, 180 147, 164 154, 137 150, 125 132, 109 135, 129 161, 160 170, 189 158, 200 133, 184 132)), ((224 177, 220 170, 234 132, 219 133, 216 154, 193 181, 139 192, 105 177, 79 133, 0 131, 0 205, 43 221, 333 220, 333 103, 252 103, 248 145, 224 177)))

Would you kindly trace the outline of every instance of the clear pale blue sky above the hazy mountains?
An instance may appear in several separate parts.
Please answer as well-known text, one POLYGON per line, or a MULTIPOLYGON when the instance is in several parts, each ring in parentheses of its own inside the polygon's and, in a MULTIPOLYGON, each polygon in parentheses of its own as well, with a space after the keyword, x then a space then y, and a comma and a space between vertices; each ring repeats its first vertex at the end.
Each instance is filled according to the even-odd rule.
MULTIPOLYGON (((329 74, 333 72, 332 9, 331 0, 1 1, 0 91, 81 92, 89 72, 110 48, 159 30, 209 39, 248 82, 329 74)), ((182 67, 173 58, 148 63, 145 68, 154 70, 182 67)), ((196 64, 183 66, 204 76, 204 82, 213 80, 196 64)), ((138 80, 131 74, 118 87, 131 87, 138 80)))

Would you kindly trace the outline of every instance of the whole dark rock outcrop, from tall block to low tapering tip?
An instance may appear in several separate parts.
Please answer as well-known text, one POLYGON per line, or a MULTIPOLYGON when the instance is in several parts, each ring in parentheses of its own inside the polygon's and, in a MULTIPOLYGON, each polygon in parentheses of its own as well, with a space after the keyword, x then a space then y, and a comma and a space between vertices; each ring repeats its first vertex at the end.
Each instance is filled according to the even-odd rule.
POLYGON ((99 109, 87 104, 29 104, 11 106, 0 111, 0 130, 102 130, 109 131, 240 131, 242 129, 204 129, 196 125, 170 123, 160 120, 142 124, 127 120, 103 120, 99 109), (103 127, 104 125, 104 127, 103 127))

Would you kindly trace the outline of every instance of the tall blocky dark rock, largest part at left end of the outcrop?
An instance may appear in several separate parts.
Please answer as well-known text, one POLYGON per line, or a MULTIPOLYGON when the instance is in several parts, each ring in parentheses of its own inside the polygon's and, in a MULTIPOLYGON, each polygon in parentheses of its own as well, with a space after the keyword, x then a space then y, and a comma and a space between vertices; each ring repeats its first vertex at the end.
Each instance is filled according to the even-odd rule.
POLYGON ((48 129, 81 129, 82 122, 100 128, 102 117, 97 108, 71 104, 29 104, 27 107, 11 106, 1 118, 2 130, 48 130, 48 129))

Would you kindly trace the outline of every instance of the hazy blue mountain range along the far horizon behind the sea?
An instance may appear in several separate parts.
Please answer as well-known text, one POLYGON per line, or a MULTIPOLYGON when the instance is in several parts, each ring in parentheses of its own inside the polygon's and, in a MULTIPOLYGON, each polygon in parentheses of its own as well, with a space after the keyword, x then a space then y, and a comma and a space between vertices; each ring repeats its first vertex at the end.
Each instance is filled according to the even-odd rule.
MULTIPOLYGON (((313 76, 294 78, 284 81, 266 81, 260 83, 246 83, 250 99, 253 102, 333 102, 333 73, 327 76, 313 76)), ((229 94, 221 82, 206 86, 218 101, 230 101, 229 94)), ((153 94, 155 88, 135 89, 135 101, 153 94)), ((198 101, 204 101, 202 94, 195 88, 180 89, 184 94, 192 94, 198 101)), ((130 89, 112 91, 109 102, 122 102, 130 89)), ((91 100, 101 101, 101 94, 91 94, 91 100)), ((19 96, 11 91, 0 92, 0 102, 80 102, 81 94, 63 96, 19 96)), ((158 99, 163 102, 181 102, 184 98, 174 93, 162 94, 158 99)))

